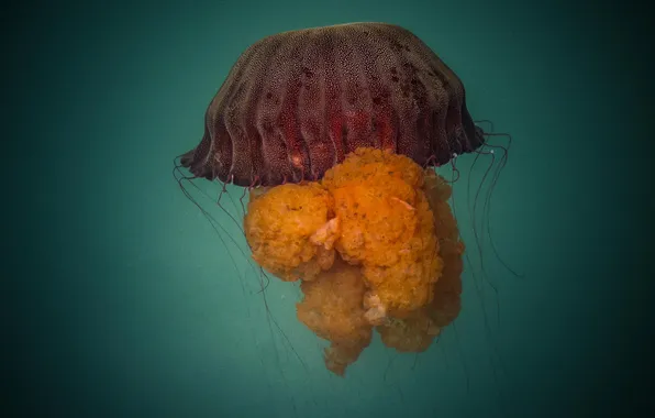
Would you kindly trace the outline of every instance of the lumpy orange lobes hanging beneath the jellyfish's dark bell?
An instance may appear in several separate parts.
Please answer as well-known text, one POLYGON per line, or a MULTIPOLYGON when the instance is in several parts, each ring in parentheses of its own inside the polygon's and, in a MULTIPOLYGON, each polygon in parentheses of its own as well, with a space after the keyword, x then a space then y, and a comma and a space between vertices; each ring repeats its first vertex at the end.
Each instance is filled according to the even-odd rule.
POLYGON ((459 312, 464 244, 434 170, 359 148, 321 182, 256 188, 244 220, 253 258, 302 280, 298 319, 329 340, 343 375, 375 328, 402 352, 426 350, 459 312))

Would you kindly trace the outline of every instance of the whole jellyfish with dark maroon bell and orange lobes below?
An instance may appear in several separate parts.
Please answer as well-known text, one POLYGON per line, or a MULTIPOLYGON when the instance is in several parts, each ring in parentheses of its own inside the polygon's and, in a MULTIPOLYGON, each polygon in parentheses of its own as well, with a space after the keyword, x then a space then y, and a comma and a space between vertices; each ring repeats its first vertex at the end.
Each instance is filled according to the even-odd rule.
POLYGON ((421 352, 457 317, 465 245, 434 167, 480 153, 486 136, 460 79, 418 36, 348 23, 249 46, 180 165, 249 190, 252 258, 301 283, 297 317, 343 376, 374 331, 421 352))

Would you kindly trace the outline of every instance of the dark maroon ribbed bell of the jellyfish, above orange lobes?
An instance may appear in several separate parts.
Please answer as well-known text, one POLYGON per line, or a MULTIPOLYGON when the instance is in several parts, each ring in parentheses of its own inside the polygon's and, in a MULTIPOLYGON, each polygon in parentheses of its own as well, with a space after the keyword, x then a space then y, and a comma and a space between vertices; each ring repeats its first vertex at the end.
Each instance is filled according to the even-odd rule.
POLYGON ((209 105, 196 177, 317 180, 358 147, 443 165, 484 143, 459 78, 410 31, 349 23, 284 32, 237 59, 209 105))

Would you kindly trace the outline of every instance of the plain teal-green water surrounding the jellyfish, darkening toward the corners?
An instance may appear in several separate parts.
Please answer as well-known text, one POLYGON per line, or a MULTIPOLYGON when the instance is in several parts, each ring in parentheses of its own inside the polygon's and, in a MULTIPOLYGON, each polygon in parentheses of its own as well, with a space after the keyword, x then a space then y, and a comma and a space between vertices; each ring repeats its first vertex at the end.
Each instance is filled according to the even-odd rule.
MULTIPOLYGON (((2 416, 598 417, 653 407, 645 10, 548 0, 3 9, 2 416), (430 350, 398 354, 376 337, 341 378, 296 319, 298 287, 271 280, 265 305, 238 229, 204 198, 225 228, 218 234, 171 170, 248 45, 356 21, 412 31, 462 78, 474 118, 511 133, 490 222, 502 260, 523 276, 488 254, 485 290, 465 270, 463 310, 430 350)), ((238 213, 241 191, 229 191, 238 213)), ((470 231, 466 206, 456 212, 470 231)))

